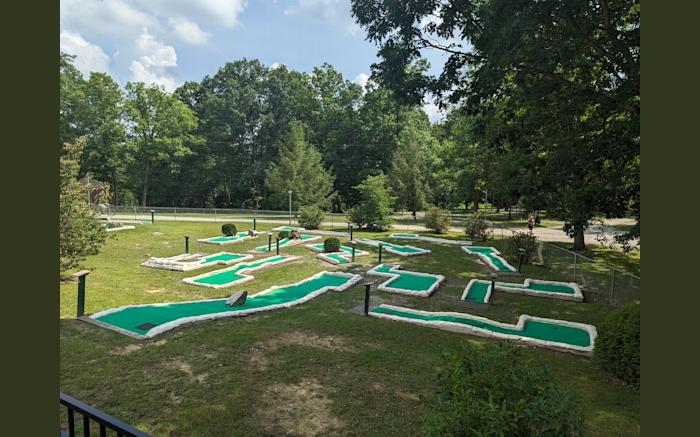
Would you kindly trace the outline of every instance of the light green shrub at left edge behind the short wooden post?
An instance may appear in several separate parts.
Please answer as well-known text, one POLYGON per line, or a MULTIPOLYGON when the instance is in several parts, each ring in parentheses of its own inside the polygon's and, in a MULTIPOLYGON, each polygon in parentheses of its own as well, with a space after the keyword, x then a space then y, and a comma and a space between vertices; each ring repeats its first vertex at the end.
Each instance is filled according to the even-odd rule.
POLYGON ((83 147, 83 140, 66 143, 60 160, 58 226, 61 272, 77 267, 87 255, 96 254, 107 237, 104 226, 86 202, 85 190, 76 179, 83 147))

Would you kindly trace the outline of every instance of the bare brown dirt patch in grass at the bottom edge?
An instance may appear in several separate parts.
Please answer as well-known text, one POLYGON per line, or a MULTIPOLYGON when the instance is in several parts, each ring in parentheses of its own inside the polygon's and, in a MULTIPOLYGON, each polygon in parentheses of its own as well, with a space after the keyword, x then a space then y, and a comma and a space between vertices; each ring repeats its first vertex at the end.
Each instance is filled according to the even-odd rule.
POLYGON ((301 436, 329 435, 343 427, 343 422, 331 412, 333 401, 328 387, 314 378, 298 384, 274 384, 263 395, 258 414, 261 423, 276 432, 301 436))

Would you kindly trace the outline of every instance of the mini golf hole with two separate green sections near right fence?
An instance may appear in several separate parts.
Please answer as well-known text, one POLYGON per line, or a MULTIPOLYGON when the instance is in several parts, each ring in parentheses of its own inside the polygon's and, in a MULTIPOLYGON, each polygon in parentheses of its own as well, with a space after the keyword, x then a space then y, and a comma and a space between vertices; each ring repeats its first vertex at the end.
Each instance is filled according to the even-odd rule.
MULTIPOLYGON (((577 302, 583 301, 581 288, 575 282, 542 281, 527 278, 522 284, 496 282, 496 291, 574 300, 577 302)), ((464 289, 462 300, 465 302, 486 303, 491 298, 491 293, 491 281, 472 279, 464 289)))

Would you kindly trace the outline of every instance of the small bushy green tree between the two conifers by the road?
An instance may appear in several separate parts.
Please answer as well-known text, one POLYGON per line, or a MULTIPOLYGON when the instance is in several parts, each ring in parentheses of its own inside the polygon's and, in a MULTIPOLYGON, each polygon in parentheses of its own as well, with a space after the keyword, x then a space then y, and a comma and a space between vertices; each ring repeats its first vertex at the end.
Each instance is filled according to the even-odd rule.
POLYGON ((393 199, 384 174, 368 176, 355 189, 360 193, 360 204, 347 211, 350 222, 359 228, 386 229, 391 223, 393 199))

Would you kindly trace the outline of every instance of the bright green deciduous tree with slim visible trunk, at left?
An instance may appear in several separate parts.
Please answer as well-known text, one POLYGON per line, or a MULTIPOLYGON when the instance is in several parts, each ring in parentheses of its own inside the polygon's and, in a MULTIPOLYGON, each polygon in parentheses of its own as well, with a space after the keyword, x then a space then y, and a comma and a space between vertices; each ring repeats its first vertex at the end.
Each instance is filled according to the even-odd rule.
POLYGON ((198 143, 192 131, 197 117, 184 103, 158 86, 126 85, 126 114, 136 164, 141 168, 141 204, 148 205, 153 166, 190 153, 198 143))

